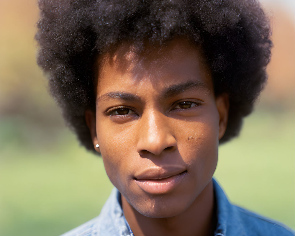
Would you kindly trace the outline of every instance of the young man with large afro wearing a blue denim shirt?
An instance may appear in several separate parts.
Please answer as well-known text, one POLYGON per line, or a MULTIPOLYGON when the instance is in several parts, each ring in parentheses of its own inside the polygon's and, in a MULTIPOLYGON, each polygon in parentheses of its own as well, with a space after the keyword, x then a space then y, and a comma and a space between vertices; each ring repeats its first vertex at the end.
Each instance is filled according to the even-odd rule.
POLYGON ((116 187, 69 235, 294 235, 212 180, 266 81, 256 1, 40 1, 38 63, 116 187))

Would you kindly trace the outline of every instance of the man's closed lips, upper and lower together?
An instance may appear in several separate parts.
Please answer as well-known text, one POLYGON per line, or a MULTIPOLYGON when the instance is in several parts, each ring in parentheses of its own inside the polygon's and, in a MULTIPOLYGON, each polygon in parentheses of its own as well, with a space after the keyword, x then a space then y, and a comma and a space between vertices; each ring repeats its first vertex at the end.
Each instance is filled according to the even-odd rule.
POLYGON ((164 194, 172 191, 186 175, 181 167, 151 168, 135 175, 135 183, 149 194, 164 194))

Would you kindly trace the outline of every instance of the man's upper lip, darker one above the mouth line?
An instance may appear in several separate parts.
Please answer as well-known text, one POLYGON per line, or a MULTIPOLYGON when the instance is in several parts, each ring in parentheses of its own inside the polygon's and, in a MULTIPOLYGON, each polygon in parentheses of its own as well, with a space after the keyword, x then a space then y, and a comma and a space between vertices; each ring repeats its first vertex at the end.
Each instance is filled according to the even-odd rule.
POLYGON ((186 171, 183 166, 167 166, 147 168, 134 175, 135 179, 163 179, 174 175, 178 175, 186 171))

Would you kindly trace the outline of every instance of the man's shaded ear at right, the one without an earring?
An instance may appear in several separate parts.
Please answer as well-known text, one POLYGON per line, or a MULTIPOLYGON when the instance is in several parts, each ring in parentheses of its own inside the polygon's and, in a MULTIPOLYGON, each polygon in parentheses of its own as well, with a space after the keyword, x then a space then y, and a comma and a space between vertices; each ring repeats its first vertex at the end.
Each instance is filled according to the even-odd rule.
POLYGON ((230 108, 230 101, 227 93, 220 94, 216 98, 216 107, 219 113, 219 136, 220 140, 227 128, 228 112, 230 108))

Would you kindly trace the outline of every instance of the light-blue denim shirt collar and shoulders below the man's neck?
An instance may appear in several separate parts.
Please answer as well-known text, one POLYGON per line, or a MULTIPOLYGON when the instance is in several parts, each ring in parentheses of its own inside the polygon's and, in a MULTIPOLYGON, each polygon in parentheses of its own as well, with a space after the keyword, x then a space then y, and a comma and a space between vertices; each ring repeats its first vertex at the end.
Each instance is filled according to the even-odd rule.
MULTIPOLYGON (((213 179, 217 204, 214 236, 295 236, 295 232, 270 219, 230 204, 213 179)), ((61 236, 134 236, 121 207, 121 194, 113 189, 98 217, 61 236)))

